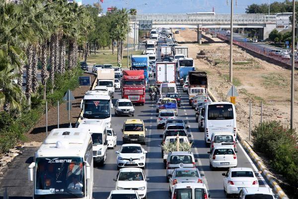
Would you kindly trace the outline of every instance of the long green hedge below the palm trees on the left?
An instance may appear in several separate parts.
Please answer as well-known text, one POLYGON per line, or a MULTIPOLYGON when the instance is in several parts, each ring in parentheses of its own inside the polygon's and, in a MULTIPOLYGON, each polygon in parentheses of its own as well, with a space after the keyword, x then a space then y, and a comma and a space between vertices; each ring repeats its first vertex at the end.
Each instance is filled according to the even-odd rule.
MULTIPOLYGON (((47 100, 49 105, 54 105, 61 100, 68 89, 74 90, 78 87, 78 77, 83 74, 80 68, 67 70, 64 74, 55 75, 55 90, 51 94, 50 86, 47 87, 47 100)), ((50 85, 50 84, 48 84, 50 85)), ((39 89, 38 97, 41 97, 43 89, 39 89)), ((35 98, 36 96, 34 96, 35 98)), ((37 100, 38 101, 38 100, 37 100)), ((37 124, 45 113, 45 101, 32 105, 28 111, 26 103, 23 104, 23 111, 17 116, 12 113, 0 112, 0 154, 13 148, 17 142, 26 140, 24 134, 37 124)))

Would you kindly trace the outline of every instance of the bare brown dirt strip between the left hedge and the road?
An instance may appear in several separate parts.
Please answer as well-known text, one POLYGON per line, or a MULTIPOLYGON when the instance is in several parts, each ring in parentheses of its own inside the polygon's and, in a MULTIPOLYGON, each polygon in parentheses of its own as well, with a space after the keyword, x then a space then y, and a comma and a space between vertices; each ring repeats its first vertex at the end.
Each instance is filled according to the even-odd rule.
MULTIPOLYGON (((94 75, 90 75, 87 73, 84 73, 83 76, 90 76, 91 77, 91 84, 95 80, 94 75)), ((80 86, 79 88, 76 88, 73 92, 74 95, 74 101, 72 101, 72 109, 71 109, 71 116, 70 120, 72 123, 72 126, 74 127, 75 122, 78 118, 78 115, 81 112, 80 109, 80 101, 83 99, 85 92, 90 90, 89 86, 80 86)), ((57 117, 58 107, 53 106, 48 110, 48 133, 54 129, 57 128, 58 124, 58 117, 57 117)), ((66 102, 60 101, 59 106, 59 127, 60 128, 68 128, 68 110, 66 110, 66 102)), ((28 141, 35 141, 35 142, 42 142, 46 138, 46 115, 43 115, 40 121, 32 128, 29 132, 25 134, 25 136, 28 138, 28 141)))

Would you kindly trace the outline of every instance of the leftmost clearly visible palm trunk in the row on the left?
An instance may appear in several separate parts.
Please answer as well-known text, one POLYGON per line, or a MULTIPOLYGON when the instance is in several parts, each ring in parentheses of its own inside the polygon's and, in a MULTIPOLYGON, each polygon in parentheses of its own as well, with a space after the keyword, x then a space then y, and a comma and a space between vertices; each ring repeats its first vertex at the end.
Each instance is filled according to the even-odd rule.
POLYGON ((30 45, 28 48, 28 65, 26 68, 26 91, 25 96, 29 105, 29 110, 31 109, 31 88, 32 88, 32 66, 33 66, 33 46, 30 45))

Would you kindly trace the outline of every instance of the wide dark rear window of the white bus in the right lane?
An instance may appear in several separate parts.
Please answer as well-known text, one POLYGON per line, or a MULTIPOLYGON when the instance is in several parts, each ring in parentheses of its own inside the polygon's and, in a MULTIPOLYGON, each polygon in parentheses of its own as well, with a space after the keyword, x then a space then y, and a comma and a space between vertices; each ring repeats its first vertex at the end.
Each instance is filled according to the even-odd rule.
POLYGON ((209 120, 233 119, 232 104, 212 104, 208 106, 209 120))

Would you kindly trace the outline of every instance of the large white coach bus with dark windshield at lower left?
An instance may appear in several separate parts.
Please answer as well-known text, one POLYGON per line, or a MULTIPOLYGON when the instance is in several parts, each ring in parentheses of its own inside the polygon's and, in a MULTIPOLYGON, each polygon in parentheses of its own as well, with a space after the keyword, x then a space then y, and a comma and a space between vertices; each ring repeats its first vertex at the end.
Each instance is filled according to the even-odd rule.
POLYGON ((53 129, 28 168, 33 199, 92 199, 92 139, 79 128, 53 129))

